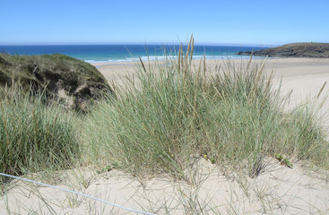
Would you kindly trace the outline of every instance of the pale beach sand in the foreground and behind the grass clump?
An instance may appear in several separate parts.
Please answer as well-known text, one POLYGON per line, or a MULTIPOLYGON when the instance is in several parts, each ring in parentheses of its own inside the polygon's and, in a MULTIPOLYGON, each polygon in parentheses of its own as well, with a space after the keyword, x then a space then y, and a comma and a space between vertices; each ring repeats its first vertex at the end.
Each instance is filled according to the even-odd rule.
MULTIPOLYGON (((241 60, 232 62, 241 64, 241 60)), ((261 63, 261 60, 255 62, 261 63)), ((218 63, 223 64, 222 61, 207 61, 210 66, 218 63)), ((247 64, 247 60, 243 60, 243 64, 247 64)), ((134 63, 94 65, 108 82, 117 85, 125 82, 126 75, 135 73, 134 63)), ((316 97, 323 84, 329 81, 329 59, 271 58, 267 60, 265 73, 272 70, 274 81, 281 80, 281 95, 293 90, 291 106, 307 97, 316 97)), ((325 103, 323 110, 327 109, 325 103)), ((191 176, 195 178, 193 185, 166 176, 141 183, 117 170, 97 174, 92 167, 57 173, 51 183, 156 214, 201 214, 201 208, 204 214, 328 214, 329 174, 307 170, 302 163, 291 161, 294 168, 281 166, 276 159, 267 159, 264 172, 249 178, 223 172, 209 160, 200 158, 191 168, 191 176)), ((22 214, 27 211, 48 214, 51 210, 58 214, 135 214, 22 181, 13 180, 8 188, 0 197, 1 214, 7 213, 6 208, 22 214)))

